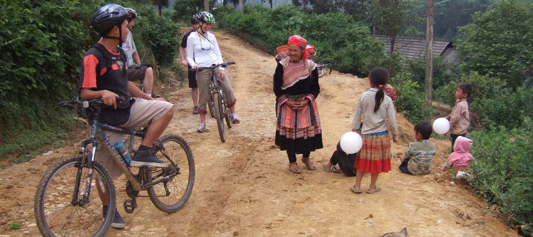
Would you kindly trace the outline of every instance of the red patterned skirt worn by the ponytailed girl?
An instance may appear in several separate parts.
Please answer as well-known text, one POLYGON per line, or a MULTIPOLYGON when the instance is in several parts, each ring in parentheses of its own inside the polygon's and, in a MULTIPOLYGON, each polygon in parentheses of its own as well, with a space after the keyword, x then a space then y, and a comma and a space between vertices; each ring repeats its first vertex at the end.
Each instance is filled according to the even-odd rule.
POLYGON ((376 132, 362 136, 363 146, 353 167, 365 173, 391 171, 391 141, 389 132, 376 132))

